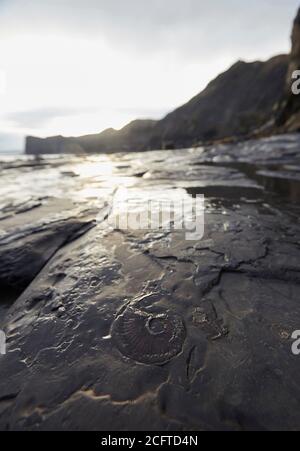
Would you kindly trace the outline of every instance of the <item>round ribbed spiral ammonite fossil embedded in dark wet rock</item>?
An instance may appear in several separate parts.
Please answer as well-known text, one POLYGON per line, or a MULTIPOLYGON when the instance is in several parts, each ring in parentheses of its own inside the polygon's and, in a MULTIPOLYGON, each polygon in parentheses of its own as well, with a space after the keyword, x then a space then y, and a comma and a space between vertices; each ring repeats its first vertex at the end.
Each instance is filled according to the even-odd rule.
POLYGON ((185 327, 178 315, 151 314, 128 307, 114 321, 112 338, 126 357, 161 365, 181 352, 185 327))

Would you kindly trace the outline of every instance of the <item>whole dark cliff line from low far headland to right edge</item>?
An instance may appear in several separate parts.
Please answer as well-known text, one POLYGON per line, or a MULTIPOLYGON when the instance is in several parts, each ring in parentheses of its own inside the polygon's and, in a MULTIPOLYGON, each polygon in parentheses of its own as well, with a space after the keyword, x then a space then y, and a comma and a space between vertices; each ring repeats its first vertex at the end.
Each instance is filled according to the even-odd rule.
POLYGON ((291 74, 300 69, 300 9, 290 55, 239 61, 197 96, 160 121, 137 120, 121 130, 79 138, 27 137, 26 153, 112 153, 181 148, 200 142, 300 130, 300 96, 291 74))

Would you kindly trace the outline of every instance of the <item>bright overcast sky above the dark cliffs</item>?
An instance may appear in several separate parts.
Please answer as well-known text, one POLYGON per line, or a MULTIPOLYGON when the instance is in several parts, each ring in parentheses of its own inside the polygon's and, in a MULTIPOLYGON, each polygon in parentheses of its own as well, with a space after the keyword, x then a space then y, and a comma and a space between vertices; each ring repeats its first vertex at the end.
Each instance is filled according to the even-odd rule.
POLYGON ((0 0, 0 152, 159 119, 290 49, 296 0, 0 0))

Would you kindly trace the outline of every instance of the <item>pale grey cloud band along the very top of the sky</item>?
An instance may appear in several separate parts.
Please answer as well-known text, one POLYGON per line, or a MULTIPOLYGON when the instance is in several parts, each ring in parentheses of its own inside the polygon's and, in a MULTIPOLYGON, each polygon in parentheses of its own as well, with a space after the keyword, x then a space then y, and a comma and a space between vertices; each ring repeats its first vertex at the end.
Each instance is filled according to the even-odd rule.
POLYGON ((297 7, 297 0, 6 0, 0 33, 101 36, 126 51, 188 59, 247 57, 258 45, 287 47, 297 7))

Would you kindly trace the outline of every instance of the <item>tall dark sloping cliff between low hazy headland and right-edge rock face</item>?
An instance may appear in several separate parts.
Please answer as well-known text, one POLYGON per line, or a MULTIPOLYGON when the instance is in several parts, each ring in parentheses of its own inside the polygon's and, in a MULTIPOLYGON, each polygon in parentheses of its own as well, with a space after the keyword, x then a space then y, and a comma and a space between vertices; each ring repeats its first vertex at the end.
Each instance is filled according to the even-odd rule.
POLYGON ((151 147, 158 147, 161 140, 184 147, 252 133, 268 121, 281 98, 287 68, 286 55, 267 62, 237 62, 186 105, 159 121, 151 147))

